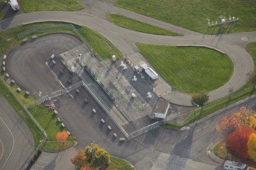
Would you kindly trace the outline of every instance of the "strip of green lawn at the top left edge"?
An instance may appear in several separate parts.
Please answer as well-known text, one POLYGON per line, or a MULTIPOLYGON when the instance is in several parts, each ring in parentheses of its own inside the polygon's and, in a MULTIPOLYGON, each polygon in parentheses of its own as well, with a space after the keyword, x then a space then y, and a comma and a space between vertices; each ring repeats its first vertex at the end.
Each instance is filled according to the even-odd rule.
POLYGON ((20 0, 22 9, 28 13, 33 11, 77 11, 84 5, 75 0, 20 0))

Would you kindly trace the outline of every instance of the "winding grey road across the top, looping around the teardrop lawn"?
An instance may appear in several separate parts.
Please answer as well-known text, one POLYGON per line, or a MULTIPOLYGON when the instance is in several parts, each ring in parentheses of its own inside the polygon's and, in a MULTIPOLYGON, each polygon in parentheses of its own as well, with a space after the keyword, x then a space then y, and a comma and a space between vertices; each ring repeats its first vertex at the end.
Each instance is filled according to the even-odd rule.
MULTIPOLYGON (((106 20, 101 19, 93 15, 89 15, 82 12, 61 12, 61 11, 41 11, 35 13, 26 13, 18 15, 17 17, 5 19, 0 22, 0 30, 5 30, 13 26, 28 22, 38 21, 65 21, 79 25, 88 26, 96 32, 99 32, 110 42, 112 42, 119 50, 127 57, 135 58, 135 60, 145 61, 143 56, 139 54, 135 42, 145 42, 150 44, 195 44, 206 45, 212 48, 218 48, 223 52, 226 52, 228 56, 234 62, 234 74, 228 83, 224 86, 210 92, 210 101, 220 99, 228 95, 228 89, 234 87, 234 90, 239 89, 247 82, 247 73, 253 71, 253 60, 251 56, 246 52, 245 45, 248 42, 256 41, 256 32, 228 34, 218 36, 183 36, 183 37, 171 37, 171 36, 156 36, 151 34, 144 34, 141 32, 134 32, 124 28, 115 26, 106 20), (246 37, 248 40, 244 41, 241 38, 246 37)), ((162 80, 162 79, 161 79, 162 80)), ((168 85, 166 85, 168 90, 168 85)), ((168 91, 170 91, 169 89, 168 91)), ((162 97, 168 99, 172 103, 179 105, 191 105, 190 95, 186 93, 180 93, 179 91, 172 91, 167 95, 162 94, 162 97)))

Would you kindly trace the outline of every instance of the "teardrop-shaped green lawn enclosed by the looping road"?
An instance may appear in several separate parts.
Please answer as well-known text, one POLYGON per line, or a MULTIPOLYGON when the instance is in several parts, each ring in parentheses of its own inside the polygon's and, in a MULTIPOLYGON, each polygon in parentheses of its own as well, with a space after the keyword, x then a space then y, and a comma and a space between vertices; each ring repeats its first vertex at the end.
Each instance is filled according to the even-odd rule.
POLYGON ((212 91, 224 85, 233 73, 230 58, 210 48, 150 44, 137 44, 137 47, 178 91, 212 91))

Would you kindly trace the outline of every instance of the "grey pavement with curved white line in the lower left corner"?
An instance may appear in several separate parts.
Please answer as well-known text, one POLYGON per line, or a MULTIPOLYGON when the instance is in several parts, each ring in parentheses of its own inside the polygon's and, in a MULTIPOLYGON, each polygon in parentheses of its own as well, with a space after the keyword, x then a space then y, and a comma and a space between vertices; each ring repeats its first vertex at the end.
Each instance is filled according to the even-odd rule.
POLYGON ((22 118, 0 94, 0 169, 20 169, 34 147, 32 134, 22 118))

